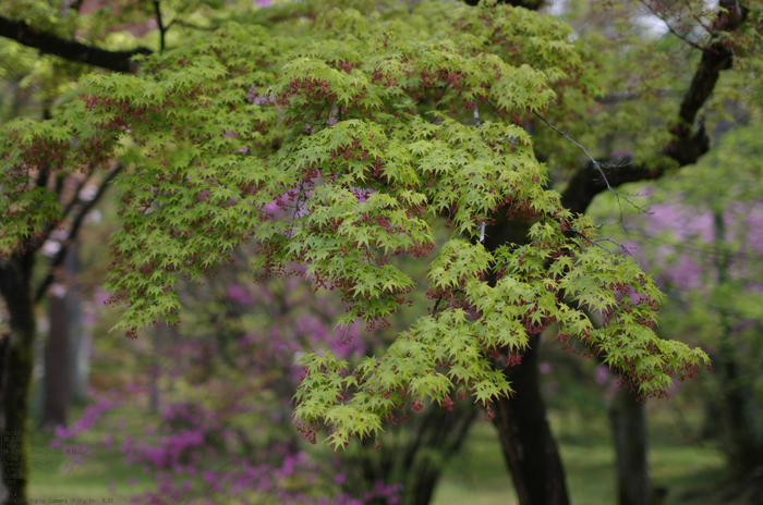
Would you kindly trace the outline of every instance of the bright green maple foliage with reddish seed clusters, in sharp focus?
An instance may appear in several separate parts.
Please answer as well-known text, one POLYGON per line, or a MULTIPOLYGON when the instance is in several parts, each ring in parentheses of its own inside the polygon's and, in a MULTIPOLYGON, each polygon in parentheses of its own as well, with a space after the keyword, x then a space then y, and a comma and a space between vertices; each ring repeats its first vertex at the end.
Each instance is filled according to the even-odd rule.
MULTIPOLYGON (((491 356, 512 362, 554 321, 642 391, 663 391, 706 356, 655 336, 651 280, 560 207, 516 124, 576 88, 585 66, 569 38, 550 16, 491 2, 334 9, 283 29, 229 23, 146 59, 136 76, 84 78, 56 119, 57 138, 75 141, 39 133, 3 163, 39 170, 43 149, 62 163, 122 164, 110 288, 129 306, 116 328, 131 334, 178 322, 178 275, 214 271, 250 241, 256 272, 302 263, 340 291, 339 323, 384 321, 413 287, 388 256, 426 256, 428 221, 446 215, 432 313, 353 373, 329 354, 303 360, 296 416, 308 431, 331 424, 335 446, 408 402, 447 405, 453 387, 484 404, 510 393, 491 356), (496 212, 536 220, 531 243, 488 251, 481 231, 496 212), (592 328, 585 310, 606 324, 592 328)), ((7 249, 29 233, 10 230, 7 249)))

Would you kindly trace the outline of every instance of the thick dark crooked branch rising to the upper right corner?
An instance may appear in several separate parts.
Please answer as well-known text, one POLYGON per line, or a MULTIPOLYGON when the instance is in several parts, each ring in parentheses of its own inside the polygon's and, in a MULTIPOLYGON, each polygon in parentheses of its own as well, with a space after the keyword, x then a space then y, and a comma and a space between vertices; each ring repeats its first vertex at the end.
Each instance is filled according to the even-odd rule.
MULTIPOLYGON (((691 85, 683 95, 677 123, 668 126, 674 137, 661 153, 678 162, 679 167, 695 163, 710 150, 710 139, 704 125, 700 124, 694 128, 694 123, 700 109, 715 89, 720 72, 730 69, 734 63, 731 47, 727 40, 717 38, 717 34, 720 29, 736 29, 744 22, 747 9, 736 3, 734 9, 739 13, 738 22, 730 23, 727 13, 718 13, 714 25, 716 26, 714 41, 708 44, 702 52, 702 59, 691 85)), ((617 187, 625 183, 659 178, 668 168, 675 167, 675 163, 668 160, 650 164, 635 163, 632 158, 626 157, 610 158, 601 165, 605 167, 603 172, 609 186, 617 187)), ((586 162, 570 180, 562 194, 561 204, 573 212, 584 212, 593 198, 607 189, 606 181, 594 163, 586 162)))

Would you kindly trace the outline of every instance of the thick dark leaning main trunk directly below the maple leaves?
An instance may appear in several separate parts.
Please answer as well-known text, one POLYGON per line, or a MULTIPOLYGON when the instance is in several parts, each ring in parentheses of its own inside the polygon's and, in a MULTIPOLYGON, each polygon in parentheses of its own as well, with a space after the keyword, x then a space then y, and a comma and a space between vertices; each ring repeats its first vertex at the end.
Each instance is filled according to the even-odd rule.
POLYGON ((522 362, 506 369, 516 393, 493 405, 493 422, 520 505, 568 505, 565 470, 541 396, 540 343, 540 335, 533 336, 522 362))

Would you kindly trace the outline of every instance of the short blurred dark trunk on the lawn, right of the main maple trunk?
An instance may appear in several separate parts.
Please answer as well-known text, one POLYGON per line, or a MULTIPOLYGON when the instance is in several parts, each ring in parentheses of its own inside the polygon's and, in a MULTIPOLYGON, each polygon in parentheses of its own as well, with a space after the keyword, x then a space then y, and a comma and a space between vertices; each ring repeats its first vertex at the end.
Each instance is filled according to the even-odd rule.
POLYGON ((620 387, 609 410, 617 453, 619 505, 650 505, 652 483, 646 461, 647 435, 644 404, 637 392, 620 387))

